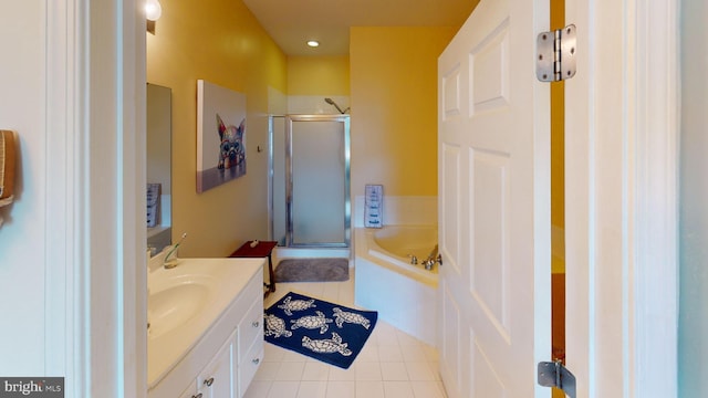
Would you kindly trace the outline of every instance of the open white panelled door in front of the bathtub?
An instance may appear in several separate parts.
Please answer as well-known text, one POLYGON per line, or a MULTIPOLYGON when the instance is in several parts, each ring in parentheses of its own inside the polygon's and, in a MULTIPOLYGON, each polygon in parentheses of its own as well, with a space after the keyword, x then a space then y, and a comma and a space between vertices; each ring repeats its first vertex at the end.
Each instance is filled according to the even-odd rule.
POLYGON ((440 373, 448 396, 548 397, 548 0, 482 0, 438 61, 440 373))

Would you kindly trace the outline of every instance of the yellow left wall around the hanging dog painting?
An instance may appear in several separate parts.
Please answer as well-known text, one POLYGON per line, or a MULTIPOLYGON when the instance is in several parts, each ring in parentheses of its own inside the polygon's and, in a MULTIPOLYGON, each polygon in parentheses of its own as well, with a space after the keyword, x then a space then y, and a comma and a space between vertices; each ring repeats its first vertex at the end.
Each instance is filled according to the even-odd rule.
POLYGON ((287 91, 287 56, 240 0, 162 4, 155 35, 146 35, 147 80, 173 90, 173 239, 189 233, 180 255, 228 255, 268 238, 268 158, 257 147, 268 145, 269 87, 287 91), (247 96, 247 174, 202 193, 195 177, 199 78, 247 96))

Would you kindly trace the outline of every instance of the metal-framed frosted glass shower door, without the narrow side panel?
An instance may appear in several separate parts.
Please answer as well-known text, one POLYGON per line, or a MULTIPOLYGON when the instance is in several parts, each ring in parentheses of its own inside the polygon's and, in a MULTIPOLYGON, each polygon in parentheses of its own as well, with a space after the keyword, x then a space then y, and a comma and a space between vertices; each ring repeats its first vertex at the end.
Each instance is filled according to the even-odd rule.
POLYGON ((287 116, 289 247, 350 243, 348 115, 287 116))

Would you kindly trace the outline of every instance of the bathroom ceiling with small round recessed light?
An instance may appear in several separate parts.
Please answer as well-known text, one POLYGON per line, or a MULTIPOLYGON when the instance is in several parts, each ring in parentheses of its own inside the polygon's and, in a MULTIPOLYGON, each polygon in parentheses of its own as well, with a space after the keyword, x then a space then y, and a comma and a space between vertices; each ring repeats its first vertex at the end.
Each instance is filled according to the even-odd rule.
POLYGON ((350 27, 460 27, 478 0, 243 0, 287 55, 346 55, 350 27), (316 49, 308 40, 320 41, 316 49))

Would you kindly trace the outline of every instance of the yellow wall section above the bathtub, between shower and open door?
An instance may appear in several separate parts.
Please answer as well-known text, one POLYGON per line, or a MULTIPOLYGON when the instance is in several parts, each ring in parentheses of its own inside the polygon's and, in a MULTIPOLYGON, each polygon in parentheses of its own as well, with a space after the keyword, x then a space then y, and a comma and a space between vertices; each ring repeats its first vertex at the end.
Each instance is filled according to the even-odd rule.
POLYGON ((457 28, 350 30, 352 196, 437 195, 437 59, 457 28))

